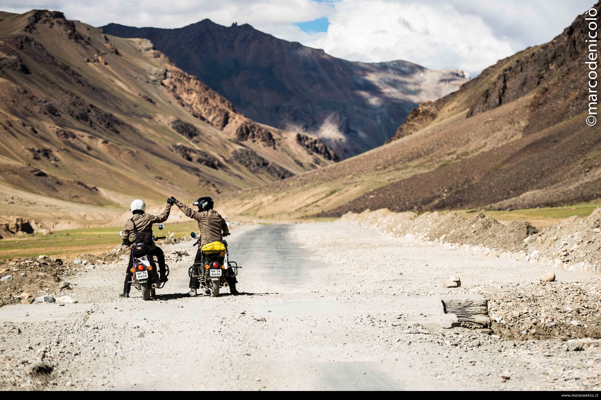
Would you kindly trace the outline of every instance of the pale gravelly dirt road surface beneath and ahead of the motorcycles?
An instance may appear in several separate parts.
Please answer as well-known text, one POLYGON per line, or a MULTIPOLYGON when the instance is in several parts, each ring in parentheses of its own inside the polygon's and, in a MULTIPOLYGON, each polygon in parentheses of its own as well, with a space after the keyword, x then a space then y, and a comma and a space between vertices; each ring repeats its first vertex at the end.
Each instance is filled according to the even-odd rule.
POLYGON ((76 304, 2 307, 0 389, 599 389, 597 346, 440 328, 441 295, 526 285, 545 268, 340 221, 237 226, 228 242, 243 295, 186 297, 184 241, 163 246, 158 300, 118 298, 125 265, 97 265, 61 292, 76 304), (442 288, 451 274, 460 289, 442 288))

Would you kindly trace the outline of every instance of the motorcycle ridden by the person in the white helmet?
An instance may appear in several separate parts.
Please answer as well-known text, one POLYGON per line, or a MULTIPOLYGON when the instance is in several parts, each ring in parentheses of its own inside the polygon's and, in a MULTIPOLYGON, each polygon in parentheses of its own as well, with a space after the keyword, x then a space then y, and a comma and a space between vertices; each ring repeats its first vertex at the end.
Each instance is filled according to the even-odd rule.
MULTIPOLYGON (((166 236, 157 237, 156 233, 159 230, 165 229, 165 225, 159 224, 159 229, 153 233, 153 241, 166 239, 166 236)), ((123 230, 119 232, 119 236, 123 236, 123 230)), ((143 243, 131 245, 130 257, 133 258, 133 266, 130 268, 132 272, 132 285, 142 291, 142 298, 150 300, 150 297, 156 296, 155 289, 162 289, 165 282, 160 282, 159 272, 157 271, 154 257, 150 254, 150 248, 143 243)), ((165 276, 169 276, 169 266, 165 265, 165 276)))

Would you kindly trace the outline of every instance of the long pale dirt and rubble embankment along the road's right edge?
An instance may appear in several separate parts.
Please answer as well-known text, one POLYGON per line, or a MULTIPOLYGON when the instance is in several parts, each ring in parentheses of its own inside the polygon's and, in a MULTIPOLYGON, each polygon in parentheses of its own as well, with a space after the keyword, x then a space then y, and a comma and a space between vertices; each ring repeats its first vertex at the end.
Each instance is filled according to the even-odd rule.
POLYGON ((410 241, 465 247, 480 254, 559 270, 599 274, 601 269, 601 208, 587 218, 571 217, 543 229, 529 223, 504 225, 483 214, 468 220, 455 212, 417 215, 380 209, 361 214, 349 212, 342 219, 410 241))

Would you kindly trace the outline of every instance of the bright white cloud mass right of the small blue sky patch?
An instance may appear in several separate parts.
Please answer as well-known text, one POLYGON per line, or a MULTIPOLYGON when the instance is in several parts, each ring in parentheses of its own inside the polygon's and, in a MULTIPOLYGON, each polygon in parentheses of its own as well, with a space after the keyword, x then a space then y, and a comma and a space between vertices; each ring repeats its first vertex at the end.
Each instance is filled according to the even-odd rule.
POLYGON ((407 60, 472 75, 560 34, 591 1, 343 0, 305 44, 355 61, 407 60), (557 5, 557 7, 555 7, 557 5))

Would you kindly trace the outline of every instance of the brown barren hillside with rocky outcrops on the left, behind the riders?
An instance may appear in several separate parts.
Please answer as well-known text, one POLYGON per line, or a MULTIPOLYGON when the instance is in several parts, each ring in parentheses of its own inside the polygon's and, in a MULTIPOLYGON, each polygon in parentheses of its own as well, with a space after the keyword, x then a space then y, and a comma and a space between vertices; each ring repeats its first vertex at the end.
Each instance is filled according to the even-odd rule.
POLYGON ((132 197, 237 191, 332 155, 239 114, 148 40, 0 13, 0 222, 110 220, 132 197))

